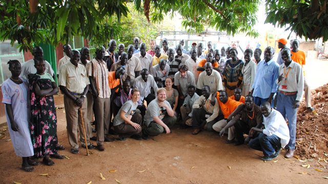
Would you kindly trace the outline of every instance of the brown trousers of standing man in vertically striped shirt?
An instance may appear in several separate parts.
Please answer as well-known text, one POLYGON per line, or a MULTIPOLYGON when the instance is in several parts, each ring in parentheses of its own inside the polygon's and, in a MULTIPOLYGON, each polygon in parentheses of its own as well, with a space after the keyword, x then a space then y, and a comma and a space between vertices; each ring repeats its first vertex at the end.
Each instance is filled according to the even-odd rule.
POLYGON ((109 133, 110 123, 110 98, 94 98, 93 103, 95 104, 95 117, 97 120, 97 145, 103 145, 105 135, 109 133))

